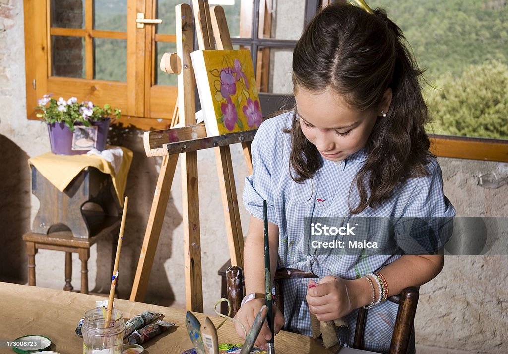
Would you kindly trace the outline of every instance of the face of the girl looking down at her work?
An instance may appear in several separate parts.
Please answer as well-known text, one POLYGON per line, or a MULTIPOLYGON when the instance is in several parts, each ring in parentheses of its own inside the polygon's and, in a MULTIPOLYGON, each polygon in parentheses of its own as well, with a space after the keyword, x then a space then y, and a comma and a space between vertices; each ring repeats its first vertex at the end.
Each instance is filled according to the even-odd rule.
MULTIPOLYGON (((391 90, 389 93, 391 101, 391 90)), ((343 160, 363 148, 377 116, 382 115, 380 110, 356 110, 332 89, 311 92, 295 87, 295 100, 303 135, 332 161, 343 160)))

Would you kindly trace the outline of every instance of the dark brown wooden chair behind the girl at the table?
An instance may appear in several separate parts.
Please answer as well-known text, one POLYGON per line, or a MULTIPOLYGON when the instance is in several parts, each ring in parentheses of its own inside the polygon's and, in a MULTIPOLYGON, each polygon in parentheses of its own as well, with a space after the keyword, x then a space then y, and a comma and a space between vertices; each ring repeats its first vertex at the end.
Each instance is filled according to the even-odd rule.
MULTIPOLYGON (((231 302, 232 314, 234 316, 240 308, 240 303, 244 297, 243 290, 243 274, 239 267, 229 267, 226 271, 228 299, 231 302)), ((275 273, 275 305, 283 312, 283 293, 281 281, 287 278, 316 278, 312 273, 303 272, 297 269, 279 269, 275 273)), ((405 354, 409 346, 409 339, 411 337, 412 328, 416 315, 416 308, 418 305, 418 298, 420 294, 417 287, 410 286, 403 289, 400 295, 388 298, 399 305, 397 318, 395 320, 395 328, 393 329, 392 342, 390 345, 390 354, 405 354)), ((367 319, 368 310, 360 308, 358 318, 356 321, 355 340, 353 347, 357 349, 364 349, 363 337, 365 332, 365 322, 367 319)))

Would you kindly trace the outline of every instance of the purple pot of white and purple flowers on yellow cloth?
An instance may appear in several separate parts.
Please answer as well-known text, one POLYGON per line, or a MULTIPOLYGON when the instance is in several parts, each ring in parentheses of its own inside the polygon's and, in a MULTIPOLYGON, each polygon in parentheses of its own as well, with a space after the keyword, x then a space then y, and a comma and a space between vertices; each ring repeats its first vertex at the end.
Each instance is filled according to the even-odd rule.
POLYGON ((78 103, 71 97, 57 100, 45 94, 38 101, 37 116, 48 125, 51 152, 59 155, 85 153, 93 148, 100 151, 106 147, 109 122, 120 117, 119 109, 109 104, 95 106, 90 101, 78 103))

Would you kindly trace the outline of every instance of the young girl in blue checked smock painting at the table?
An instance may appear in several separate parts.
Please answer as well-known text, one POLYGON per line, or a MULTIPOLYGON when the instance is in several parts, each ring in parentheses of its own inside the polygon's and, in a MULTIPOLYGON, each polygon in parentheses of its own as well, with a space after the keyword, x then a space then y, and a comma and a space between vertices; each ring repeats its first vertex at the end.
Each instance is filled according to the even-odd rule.
MULTIPOLYGON (((284 326, 311 335, 309 312, 321 321, 343 317, 348 327, 337 328, 337 335, 351 345, 357 309, 364 306, 371 308, 365 346, 387 351, 397 305, 382 300, 434 278, 443 264, 438 247, 410 252, 400 246, 401 235, 386 232, 380 243, 397 245, 390 253, 312 252, 309 244, 320 239, 308 217, 440 218, 453 217, 455 209, 443 196, 441 171, 428 150, 422 71, 386 12, 368 10, 335 4, 314 17, 293 54, 295 110, 264 122, 252 142, 253 175, 243 200, 251 214, 245 286, 254 295, 244 299, 236 319, 250 328, 265 301, 266 200, 272 269, 321 278, 309 289, 308 279, 284 280, 284 314, 274 308, 275 333, 284 326)), ((450 230, 441 227, 444 242, 450 230)), ((336 239, 347 243, 350 236, 336 239)), ((243 335, 239 326, 237 332, 243 335)), ((265 347, 270 337, 265 326, 257 345, 265 347)))

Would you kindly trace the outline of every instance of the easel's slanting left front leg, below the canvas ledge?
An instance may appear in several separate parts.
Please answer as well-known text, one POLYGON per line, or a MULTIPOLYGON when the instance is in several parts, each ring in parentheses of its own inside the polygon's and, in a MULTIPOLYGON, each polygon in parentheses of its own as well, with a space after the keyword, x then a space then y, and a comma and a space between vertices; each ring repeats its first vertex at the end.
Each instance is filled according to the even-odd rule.
POLYGON ((162 159, 161 172, 159 173, 157 186, 148 216, 143 247, 139 256, 138 269, 134 277, 134 284, 131 292, 131 301, 143 302, 148 288, 148 280, 152 270, 155 250, 164 221, 164 214, 168 205, 171 184, 175 175, 178 155, 166 155, 162 159))

